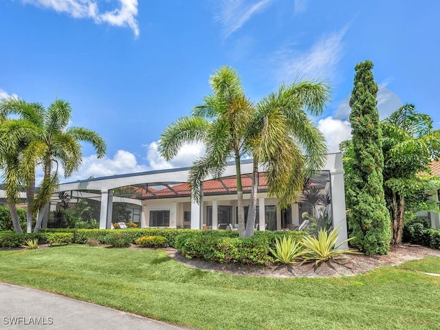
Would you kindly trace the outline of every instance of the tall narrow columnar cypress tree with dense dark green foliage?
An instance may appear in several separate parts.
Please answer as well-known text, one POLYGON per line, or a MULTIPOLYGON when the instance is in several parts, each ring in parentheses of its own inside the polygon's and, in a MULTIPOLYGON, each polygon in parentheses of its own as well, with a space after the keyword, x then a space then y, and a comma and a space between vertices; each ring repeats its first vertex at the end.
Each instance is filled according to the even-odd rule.
POLYGON ((391 222, 384 198, 384 155, 382 131, 376 109, 377 84, 365 61, 355 66, 350 99, 353 134, 353 173, 347 195, 349 228, 355 236, 352 244, 366 254, 387 254, 390 248, 391 222))

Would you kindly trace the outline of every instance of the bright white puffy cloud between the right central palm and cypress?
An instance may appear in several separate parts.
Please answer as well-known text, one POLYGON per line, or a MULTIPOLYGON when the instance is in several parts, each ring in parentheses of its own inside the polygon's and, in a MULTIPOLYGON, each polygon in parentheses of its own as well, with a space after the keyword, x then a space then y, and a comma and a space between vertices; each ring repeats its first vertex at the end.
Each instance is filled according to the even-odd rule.
POLYGON ((351 124, 347 120, 333 119, 330 116, 318 122, 318 129, 327 140, 329 153, 338 153, 339 144, 351 139, 351 124))

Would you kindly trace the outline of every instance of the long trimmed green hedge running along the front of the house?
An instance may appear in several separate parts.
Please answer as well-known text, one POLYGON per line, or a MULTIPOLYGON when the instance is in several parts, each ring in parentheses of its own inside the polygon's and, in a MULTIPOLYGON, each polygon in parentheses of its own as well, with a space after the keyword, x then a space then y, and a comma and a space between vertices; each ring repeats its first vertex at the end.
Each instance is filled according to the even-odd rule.
POLYGON ((188 230, 169 228, 132 228, 126 230, 98 229, 45 229, 38 234, 0 234, 0 247, 14 248, 27 239, 39 243, 78 243, 91 241, 126 247, 144 236, 162 236, 164 247, 180 250, 188 258, 201 258, 221 263, 267 264, 272 261, 269 249, 274 248, 276 237, 287 235, 301 239, 305 232, 255 232, 253 237, 240 239, 234 230, 188 230))

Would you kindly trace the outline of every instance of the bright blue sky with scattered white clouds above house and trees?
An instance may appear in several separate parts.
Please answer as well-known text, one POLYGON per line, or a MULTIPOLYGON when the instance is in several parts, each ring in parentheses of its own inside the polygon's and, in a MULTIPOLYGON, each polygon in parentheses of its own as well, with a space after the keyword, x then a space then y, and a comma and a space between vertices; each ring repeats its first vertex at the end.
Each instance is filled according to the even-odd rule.
POLYGON ((337 151, 365 59, 382 118, 408 102, 440 128, 439 14, 437 0, 0 0, 0 98, 62 98, 73 126, 106 140, 107 157, 85 146, 69 181, 188 166, 199 146, 165 162, 156 142, 210 93, 221 65, 255 102, 297 77, 327 81, 332 101, 314 120, 337 151))

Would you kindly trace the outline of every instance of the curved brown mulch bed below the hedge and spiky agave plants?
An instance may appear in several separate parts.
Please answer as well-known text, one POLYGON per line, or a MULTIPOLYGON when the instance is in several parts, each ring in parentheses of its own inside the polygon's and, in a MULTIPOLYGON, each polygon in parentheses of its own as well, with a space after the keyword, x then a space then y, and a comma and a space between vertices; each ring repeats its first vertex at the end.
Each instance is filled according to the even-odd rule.
POLYGON ((366 256, 364 254, 345 254, 342 259, 322 263, 318 267, 314 263, 303 265, 270 265, 268 267, 255 265, 237 265, 206 262, 201 259, 187 259, 175 249, 164 249, 168 255, 188 267, 212 272, 223 272, 247 276, 271 276, 289 278, 296 276, 307 277, 336 277, 351 276, 373 270, 383 265, 398 265, 405 261, 422 259, 426 256, 439 256, 440 250, 432 250, 421 245, 401 245, 392 247, 386 256, 366 256))

